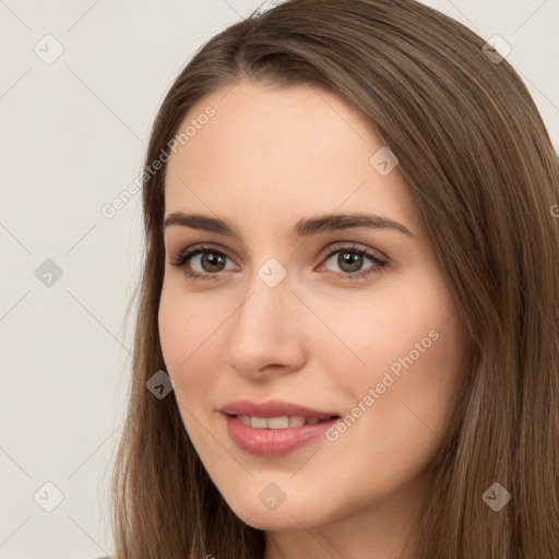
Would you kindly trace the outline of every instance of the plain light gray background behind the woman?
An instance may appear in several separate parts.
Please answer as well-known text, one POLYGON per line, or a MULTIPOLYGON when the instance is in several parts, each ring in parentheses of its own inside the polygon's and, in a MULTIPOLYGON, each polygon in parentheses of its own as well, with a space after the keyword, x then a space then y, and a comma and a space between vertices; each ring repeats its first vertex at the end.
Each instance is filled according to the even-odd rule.
MULTIPOLYGON (((0 0, 0 558, 112 551, 106 499, 141 197, 110 219, 100 207, 139 175, 155 111, 189 57, 259 3, 0 0), (64 49, 50 64, 34 51, 52 53, 47 34, 64 49), (46 259, 62 270, 50 286, 35 275, 46 259), (47 481, 63 495, 52 512, 38 504, 53 502, 47 481)), ((425 3, 511 45, 557 148, 559 0, 425 3)))

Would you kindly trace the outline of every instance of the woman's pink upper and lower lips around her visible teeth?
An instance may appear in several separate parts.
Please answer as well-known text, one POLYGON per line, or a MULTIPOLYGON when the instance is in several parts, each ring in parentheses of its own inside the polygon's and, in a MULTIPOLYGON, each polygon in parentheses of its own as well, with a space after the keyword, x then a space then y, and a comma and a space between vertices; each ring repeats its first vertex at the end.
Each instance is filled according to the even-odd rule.
POLYGON ((333 413, 321 412, 278 400, 263 403, 239 400, 225 405, 221 412, 224 414, 227 431, 231 440, 246 452, 265 456, 277 456, 293 452, 324 435, 340 419, 340 416, 333 413), (302 417, 317 417, 322 419, 322 423, 287 427, 285 429, 258 429, 242 424, 235 417, 236 415, 255 417, 299 415, 302 417))

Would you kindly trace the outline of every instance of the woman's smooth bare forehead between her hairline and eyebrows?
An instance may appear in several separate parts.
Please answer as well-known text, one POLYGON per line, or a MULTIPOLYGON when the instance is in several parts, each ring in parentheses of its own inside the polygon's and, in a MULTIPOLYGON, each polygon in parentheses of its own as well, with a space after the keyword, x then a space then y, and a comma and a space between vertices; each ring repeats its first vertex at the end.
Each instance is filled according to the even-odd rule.
POLYGON ((418 226, 397 167, 382 176, 370 163, 383 144, 331 93, 241 82, 193 106, 179 133, 187 127, 191 135, 168 162, 167 213, 270 222, 281 212, 293 223, 336 209, 370 210, 418 226))

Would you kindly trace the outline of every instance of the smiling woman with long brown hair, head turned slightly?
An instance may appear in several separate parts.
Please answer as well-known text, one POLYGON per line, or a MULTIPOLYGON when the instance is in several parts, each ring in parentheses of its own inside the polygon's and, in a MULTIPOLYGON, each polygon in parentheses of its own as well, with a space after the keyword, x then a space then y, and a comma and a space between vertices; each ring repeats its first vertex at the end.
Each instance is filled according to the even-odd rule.
POLYGON ((559 557, 559 169, 412 0, 289 0, 156 117, 116 557, 559 557))

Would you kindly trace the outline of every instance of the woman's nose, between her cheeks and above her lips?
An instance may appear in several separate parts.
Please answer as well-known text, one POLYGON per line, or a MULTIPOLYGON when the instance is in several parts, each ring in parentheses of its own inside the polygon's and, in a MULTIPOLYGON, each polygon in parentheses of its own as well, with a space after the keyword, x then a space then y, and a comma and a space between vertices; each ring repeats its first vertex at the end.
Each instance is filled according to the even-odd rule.
POLYGON ((305 361, 304 306, 287 277, 271 287, 258 274, 230 321, 225 361, 259 379, 298 370, 305 361))

